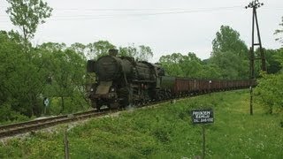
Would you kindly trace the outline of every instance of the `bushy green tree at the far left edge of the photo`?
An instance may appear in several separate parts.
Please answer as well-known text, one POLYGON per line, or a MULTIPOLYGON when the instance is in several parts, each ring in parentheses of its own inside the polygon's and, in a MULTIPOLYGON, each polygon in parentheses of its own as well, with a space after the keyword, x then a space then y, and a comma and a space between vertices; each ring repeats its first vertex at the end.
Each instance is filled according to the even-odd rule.
MULTIPOLYGON (((22 45, 20 43, 19 34, 14 32, 0 32, 0 105, 11 105, 13 110, 19 108, 18 92, 22 90, 20 87, 19 70, 23 64, 23 56, 21 54, 22 45), (17 62, 17 64, 15 64, 17 62), (15 91, 15 89, 19 89, 15 91), (15 97, 14 97, 15 96, 15 97)), ((23 82, 23 80, 21 80, 23 82)), ((23 107, 24 104, 20 105, 23 107)))

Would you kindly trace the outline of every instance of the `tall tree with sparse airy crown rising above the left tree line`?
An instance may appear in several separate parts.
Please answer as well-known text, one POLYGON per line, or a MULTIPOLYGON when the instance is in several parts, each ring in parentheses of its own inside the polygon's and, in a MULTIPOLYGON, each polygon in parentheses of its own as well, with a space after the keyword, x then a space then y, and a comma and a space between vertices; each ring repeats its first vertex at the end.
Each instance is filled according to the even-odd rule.
POLYGON ((23 56, 23 52, 19 51, 18 54, 22 56, 20 62, 15 66, 20 67, 19 70, 15 70, 12 81, 17 87, 11 90, 12 94, 21 95, 12 98, 19 100, 19 110, 25 113, 27 116, 39 116, 41 112, 40 95, 45 85, 45 66, 42 61, 41 52, 37 52, 32 48, 30 39, 34 37, 34 33, 39 24, 44 23, 44 19, 47 19, 51 15, 52 9, 47 3, 43 3, 42 0, 7 0, 11 5, 6 12, 10 15, 11 22, 14 26, 17 26, 22 31, 22 37, 19 38, 21 43, 24 44, 22 48, 23 52, 27 53, 23 56), (20 75, 20 78, 18 78, 20 75), (20 88, 19 88, 20 87, 20 88), (19 89, 19 90, 17 90, 19 89), (26 95, 26 96, 23 96, 26 95), (23 105, 27 105, 23 107, 23 105), (25 109, 22 109, 25 108, 25 109))

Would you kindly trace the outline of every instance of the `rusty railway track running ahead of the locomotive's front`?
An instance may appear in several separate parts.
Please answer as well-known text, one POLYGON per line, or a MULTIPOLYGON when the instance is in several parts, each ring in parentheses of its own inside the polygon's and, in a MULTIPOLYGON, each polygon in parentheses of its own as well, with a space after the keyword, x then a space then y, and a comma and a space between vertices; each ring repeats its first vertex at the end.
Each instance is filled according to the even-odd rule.
POLYGON ((41 130, 43 128, 47 128, 54 125, 64 124, 64 123, 71 123, 74 121, 79 121, 82 119, 87 119, 90 117, 100 117, 107 115, 109 113, 117 112, 119 110, 104 110, 104 111, 86 111, 75 113, 71 115, 63 115, 57 117, 48 117, 42 118, 38 120, 32 120, 12 125, 1 125, 0 126, 0 139, 5 137, 14 136, 21 133, 28 133, 32 131, 41 130))

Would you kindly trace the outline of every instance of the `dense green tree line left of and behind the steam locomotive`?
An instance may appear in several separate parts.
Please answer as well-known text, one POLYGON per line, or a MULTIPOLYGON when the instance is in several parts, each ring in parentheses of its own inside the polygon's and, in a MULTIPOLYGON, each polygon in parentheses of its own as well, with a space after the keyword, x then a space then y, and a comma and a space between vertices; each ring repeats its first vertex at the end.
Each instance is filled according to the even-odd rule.
MULTIPOLYGON (((116 48, 107 41, 74 43, 70 47, 46 42, 29 47, 27 54, 24 45, 20 34, 0 32, 0 111, 5 112, 0 120, 14 120, 19 114, 41 116, 45 110, 44 97, 50 99, 49 114, 88 109, 87 58, 101 57, 108 49, 116 48)), ((124 56, 141 60, 152 56, 151 49, 143 45, 120 50, 124 56)))

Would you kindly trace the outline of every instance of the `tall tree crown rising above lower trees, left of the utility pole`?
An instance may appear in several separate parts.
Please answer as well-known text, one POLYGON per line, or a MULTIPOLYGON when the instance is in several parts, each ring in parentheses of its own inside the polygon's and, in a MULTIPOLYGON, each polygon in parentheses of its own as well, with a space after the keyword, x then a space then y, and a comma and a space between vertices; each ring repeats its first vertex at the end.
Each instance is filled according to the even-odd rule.
POLYGON ((229 26, 221 26, 212 41, 212 56, 216 52, 233 52, 240 57, 248 58, 248 50, 245 42, 240 39, 240 34, 229 26))

